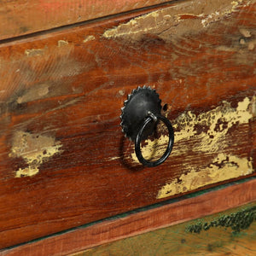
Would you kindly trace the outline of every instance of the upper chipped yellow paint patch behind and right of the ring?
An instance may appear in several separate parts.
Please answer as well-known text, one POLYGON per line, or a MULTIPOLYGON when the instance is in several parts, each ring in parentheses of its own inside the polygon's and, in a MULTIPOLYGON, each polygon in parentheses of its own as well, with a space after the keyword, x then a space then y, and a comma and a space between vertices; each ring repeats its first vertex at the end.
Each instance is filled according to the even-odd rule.
MULTIPOLYGON (((232 108, 230 102, 223 102, 221 106, 199 115, 191 111, 181 113, 177 119, 172 120, 175 145, 171 155, 189 154, 189 151, 217 153, 224 149, 226 147, 224 139, 230 128, 237 124, 247 124, 253 118, 254 104, 254 97, 252 102, 246 97, 242 102, 238 102, 237 108, 232 108), (177 147, 178 142, 190 139, 198 142, 193 148, 177 147)), ((146 140, 147 146, 141 148, 144 158, 152 160, 159 158, 165 153, 168 140, 167 136, 161 136, 154 141, 146 140)), ((138 163, 135 153, 131 154, 131 158, 138 163)))

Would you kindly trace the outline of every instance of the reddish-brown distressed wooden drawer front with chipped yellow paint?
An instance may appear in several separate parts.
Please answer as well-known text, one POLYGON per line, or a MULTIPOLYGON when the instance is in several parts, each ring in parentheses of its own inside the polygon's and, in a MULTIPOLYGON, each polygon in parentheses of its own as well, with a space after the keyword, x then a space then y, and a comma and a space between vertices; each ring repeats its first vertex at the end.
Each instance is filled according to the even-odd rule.
POLYGON ((255 13, 189 1, 1 44, 0 247, 254 175, 255 13), (144 84, 175 130, 157 168, 119 127, 144 84))

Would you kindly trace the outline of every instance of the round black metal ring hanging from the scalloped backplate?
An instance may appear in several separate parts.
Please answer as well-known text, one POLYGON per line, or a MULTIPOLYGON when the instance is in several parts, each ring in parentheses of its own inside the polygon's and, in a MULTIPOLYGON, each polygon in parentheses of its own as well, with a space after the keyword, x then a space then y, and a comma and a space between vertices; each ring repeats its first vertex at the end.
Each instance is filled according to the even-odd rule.
POLYGON ((172 146, 174 143, 174 132, 173 132, 173 128, 172 128, 172 124, 171 122, 166 119, 166 117, 160 115, 160 114, 154 114, 157 119, 160 119, 168 128, 169 131, 169 142, 168 142, 168 146, 166 148, 166 152, 165 154, 162 155, 162 157, 159 160, 156 161, 148 161, 145 160, 141 151, 141 142, 142 142, 142 136, 143 136, 143 131, 144 129, 147 127, 149 122, 154 122, 154 119, 150 116, 148 116, 144 122, 143 125, 141 126, 139 132, 137 133, 137 137, 135 140, 135 152, 137 155, 137 159, 143 164, 143 166, 148 166, 148 167, 154 167, 154 166, 159 166, 160 164, 162 164, 167 157, 171 154, 172 152, 172 146))

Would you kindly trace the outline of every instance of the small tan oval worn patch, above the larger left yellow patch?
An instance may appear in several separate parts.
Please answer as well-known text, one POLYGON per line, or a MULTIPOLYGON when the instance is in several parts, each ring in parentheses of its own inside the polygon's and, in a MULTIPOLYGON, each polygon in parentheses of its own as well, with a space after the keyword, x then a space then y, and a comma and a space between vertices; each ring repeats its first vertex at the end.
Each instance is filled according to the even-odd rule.
POLYGON ((34 87, 26 90, 26 92, 19 96, 17 99, 17 103, 25 103, 25 102, 32 102, 38 99, 43 98, 49 93, 49 85, 48 84, 38 84, 34 87))

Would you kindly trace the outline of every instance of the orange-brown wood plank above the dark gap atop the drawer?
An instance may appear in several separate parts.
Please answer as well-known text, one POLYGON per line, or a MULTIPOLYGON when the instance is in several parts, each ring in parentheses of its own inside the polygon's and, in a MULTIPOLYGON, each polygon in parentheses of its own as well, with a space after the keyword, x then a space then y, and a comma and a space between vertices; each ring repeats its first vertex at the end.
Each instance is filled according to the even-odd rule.
POLYGON ((0 40, 145 8, 166 0, 11 0, 0 3, 0 40))

